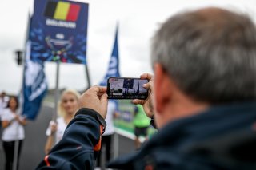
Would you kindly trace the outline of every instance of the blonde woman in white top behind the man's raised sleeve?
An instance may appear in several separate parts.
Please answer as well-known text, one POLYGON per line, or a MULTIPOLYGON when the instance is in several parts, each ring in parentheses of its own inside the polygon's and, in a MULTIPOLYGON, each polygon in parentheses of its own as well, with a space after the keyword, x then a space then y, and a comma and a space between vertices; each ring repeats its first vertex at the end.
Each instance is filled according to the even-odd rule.
POLYGON ((48 154, 50 149, 62 140, 62 136, 66 126, 74 118, 75 112, 78 110, 79 93, 73 89, 66 89, 62 92, 60 101, 58 101, 58 118, 57 122, 50 121, 49 127, 46 130, 48 136, 45 145, 45 152, 48 154), (55 138, 55 142, 54 142, 55 138))

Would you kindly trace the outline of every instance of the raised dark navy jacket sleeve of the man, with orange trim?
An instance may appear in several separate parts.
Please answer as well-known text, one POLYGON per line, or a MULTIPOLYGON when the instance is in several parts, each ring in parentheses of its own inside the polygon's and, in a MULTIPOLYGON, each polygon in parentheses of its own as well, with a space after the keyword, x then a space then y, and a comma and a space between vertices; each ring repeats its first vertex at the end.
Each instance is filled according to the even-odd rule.
MULTIPOLYGON (((91 109, 84 111, 96 113, 91 109)), ((62 140, 38 164, 37 169, 94 169, 94 162, 101 147, 100 126, 90 115, 76 115, 67 125, 62 140)))

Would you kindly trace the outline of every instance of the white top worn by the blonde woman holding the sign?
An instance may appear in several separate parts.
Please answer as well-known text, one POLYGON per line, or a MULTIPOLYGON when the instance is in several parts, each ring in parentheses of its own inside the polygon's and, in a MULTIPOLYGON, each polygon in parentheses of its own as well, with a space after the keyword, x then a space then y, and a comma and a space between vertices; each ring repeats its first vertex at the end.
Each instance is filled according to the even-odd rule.
MULTIPOLYGON (((66 129, 66 122, 64 117, 57 118, 57 131, 55 132, 55 144, 57 144, 60 140, 62 140, 62 136, 66 129)), ((50 136, 50 126, 54 124, 54 121, 50 121, 48 128, 46 129, 46 136, 50 136)))

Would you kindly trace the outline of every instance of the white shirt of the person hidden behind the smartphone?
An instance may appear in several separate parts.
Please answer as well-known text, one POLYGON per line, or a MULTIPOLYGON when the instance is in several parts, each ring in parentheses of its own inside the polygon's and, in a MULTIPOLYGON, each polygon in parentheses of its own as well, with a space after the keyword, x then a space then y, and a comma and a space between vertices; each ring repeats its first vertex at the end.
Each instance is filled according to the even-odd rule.
POLYGON ((115 110, 116 110, 115 103, 113 101, 109 101, 107 105, 107 113, 106 113, 106 119, 105 119, 106 129, 105 129, 105 132, 103 133, 103 136, 114 134, 113 118, 114 118, 115 110))

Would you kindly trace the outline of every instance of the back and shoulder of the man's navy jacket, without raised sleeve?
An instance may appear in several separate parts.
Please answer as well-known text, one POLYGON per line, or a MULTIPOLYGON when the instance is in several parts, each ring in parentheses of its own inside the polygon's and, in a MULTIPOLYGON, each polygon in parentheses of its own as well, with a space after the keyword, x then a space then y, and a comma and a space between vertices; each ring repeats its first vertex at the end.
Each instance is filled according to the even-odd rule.
POLYGON ((222 105, 174 121, 118 169, 256 169, 256 103, 222 105))

